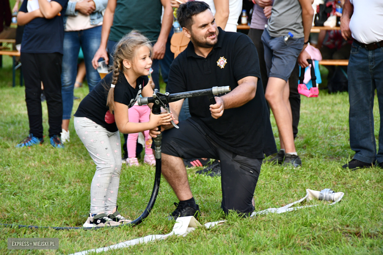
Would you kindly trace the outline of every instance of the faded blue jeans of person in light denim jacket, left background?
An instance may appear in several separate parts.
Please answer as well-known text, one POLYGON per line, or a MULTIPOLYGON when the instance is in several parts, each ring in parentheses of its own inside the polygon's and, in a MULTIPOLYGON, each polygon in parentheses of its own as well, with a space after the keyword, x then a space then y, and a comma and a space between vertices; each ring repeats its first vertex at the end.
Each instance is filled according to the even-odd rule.
POLYGON ((86 80, 89 92, 101 80, 97 70, 92 66, 92 59, 101 43, 101 27, 96 26, 86 30, 69 31, 64 33, 64 49, 62 57, 61 95, 62 119, 69 120, 73 108, 73 89, 77 76, 77 59, 80 47, 84 54, 86 80))

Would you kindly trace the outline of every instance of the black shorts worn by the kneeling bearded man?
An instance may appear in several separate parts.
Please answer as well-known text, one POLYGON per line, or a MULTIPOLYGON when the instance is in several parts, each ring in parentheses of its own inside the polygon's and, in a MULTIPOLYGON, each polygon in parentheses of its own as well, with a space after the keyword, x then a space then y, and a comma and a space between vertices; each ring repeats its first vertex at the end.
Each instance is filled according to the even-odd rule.
POLYGON ((181 157, 207 157, 221 162, 221 207, 246 215, 254 211, 252 198, 262 159, 241 156, 220 147, 190 118, 163 132, 162 153, 181 157))

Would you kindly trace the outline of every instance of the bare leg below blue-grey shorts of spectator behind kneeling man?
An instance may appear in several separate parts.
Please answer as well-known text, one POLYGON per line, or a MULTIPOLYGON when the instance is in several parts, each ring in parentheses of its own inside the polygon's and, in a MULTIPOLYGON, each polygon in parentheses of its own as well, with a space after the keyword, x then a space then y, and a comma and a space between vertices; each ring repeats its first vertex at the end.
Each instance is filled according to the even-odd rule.
POLYGON ((285 94, 285 87, 288 84, 285 80, 276 77, 270 77, 267 84, 265 97, 270 104, 273 111, 276 126, 280 134, 280 139, 283 141, 286 153, 294 153, 294 135, 293 135, 293 122, 291 115, 291 107, 286 105, 283 95, 285 94))

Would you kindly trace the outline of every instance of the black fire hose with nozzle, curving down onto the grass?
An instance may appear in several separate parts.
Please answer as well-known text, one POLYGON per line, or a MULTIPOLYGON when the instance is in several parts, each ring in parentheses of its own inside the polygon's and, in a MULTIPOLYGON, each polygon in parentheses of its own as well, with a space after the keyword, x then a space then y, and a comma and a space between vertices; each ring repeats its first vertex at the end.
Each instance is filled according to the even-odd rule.
MULTIPOLYGON (((153 114, 161 114, 161 107, 163 107, 167 112, 170 112, 169 108, 167 107, 167 104, 169 102, 176 102, 181 99, 185 98, 192 98, 192 97, 200 97, 200 96, 208 96, 209 101, 212 104, 216 103, 215 96, 229 93, 230 87, 213 87, 211 89, 203 89, 203 90, 195 90, 190 92, 182 92, 182 93, 175 93, 175 94, 169 94, 166 92, 165 94, 160 93, 157 89, 154 90, 153 97, 145 97, 145 98, 138 98, 137 102, 138 105, 143 104, 149 104, 153 103, 152 112, 153 114)), ((174 124, 172 121, 172 124, 174 127, 178 128, 177 125, 174 124)), ((158 127, 158 130, 161 130, 161 127, 158 127)), ((154 203, 156 202, 158 191, 160 189, 160 181, 161 181, 161 140, 162 140, 162 133, 157 135, 156 138, 153 138, 153 143, 155 146, 155 157, 156 157, 156 173, 154 177, 154 185, 153 185, 153 191, 152 195, 150 196, 150 200, 148 202, 148 205, 146 206, 143 213, 134 221, 119 225, 119 226, 111 226, 111 227, 92 227, 92 228, 85 228, 85 227, 40 227, 40 226, 28 226, 28 225, 16 225, 16 224, 0 224, 0 226, 3 227, 16 227, 16 228, 28 228, 28 229, 55 229, 55 230, 69 230, 69 229, 101 229, 101 228, 118 228, 120 226, 127 226, 127 225, 138 225, 140 224, 146 217, 149 216, 150 211, 152 210, 154 203)))

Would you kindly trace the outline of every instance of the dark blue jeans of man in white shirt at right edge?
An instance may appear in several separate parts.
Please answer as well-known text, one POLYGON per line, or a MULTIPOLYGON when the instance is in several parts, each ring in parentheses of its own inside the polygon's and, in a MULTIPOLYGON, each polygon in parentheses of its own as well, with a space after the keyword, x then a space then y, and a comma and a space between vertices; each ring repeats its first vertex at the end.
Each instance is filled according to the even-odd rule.
POLYGON ((383 120, 379 130, 379 151, 374 135, 375 89, 379 112, 383 114, 383 48, 368 51, 353 43, 348 66, 350 100, 350 146, 354 158, 365 163, 383 162, 383 120))

